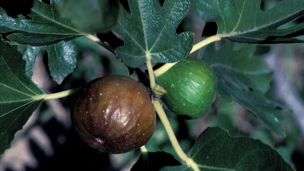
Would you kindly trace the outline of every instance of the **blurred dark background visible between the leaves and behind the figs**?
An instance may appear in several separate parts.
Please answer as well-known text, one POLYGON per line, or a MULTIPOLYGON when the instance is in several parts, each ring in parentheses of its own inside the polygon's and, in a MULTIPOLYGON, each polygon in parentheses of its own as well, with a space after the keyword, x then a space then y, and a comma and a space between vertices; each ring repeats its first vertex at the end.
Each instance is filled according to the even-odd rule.
MULTIPOLYGON (((160 1, 162 2, 162 1, 160 1)), ((194 2, 194 1, 193 1, 194 2)), ((262 9, 268 10, 275 6, 279 0, 263 0, 262 9)), ((161 3, 160 3, 161 4, 161 3)), ((157 4, 154 5, 156 8, 157 4)), ((301 18, 303 20, 303 18, 301 18)), ((191 30, 196 32, 198 26, 198 17, 195 16, 193 3, 188 15, 185 17, 177 32, 191 30)), ((202 21, 201 21, 202 22, 202 21)), ((202 22, 203 23, 203 22, 202 22)), ((288 23, 286 27, 293 25, 288 23)), ((203 27, 200 25, 200 27, 203 27)), ((216 25, 207 23, 202 35, 207 36, 214 34, 216 25)), ((197 33, 197 32, 196 32, 197 33)), ((216 33, 216 32, 215 32, 216 33)), ((112 36, 103 34, 102 36, 112 36)), ((200 39, 200 37, 199 37, 200 39)), ((119 41, 119 40, 117 40, 119 41)), ((121 41, 121 40, 120 40, 121 41)), ((121 42, 119 42, 121 44, 121 42)), ((50 92, 60 92, 67 89, 77 88, 85 85, 87 82, 105 75, 129 75, 128 68, 116 58, 115 55, 100 47, 97 43, 92 42, 86 37, 77 38, 74 41, 77 51, 77 66, 74 72, 67 76, 62 84, 57 85, 50 78, 50 73, 46 73, 43 78, 47 79, 47 85, 50 92)), ((292 82, 296 90, 304 99, 304 45, 275 45, 280 47, 279 60, 282 61, 286 70, 286 77, 292 82)), ((258 46, 255 57, 262 58, 268 53, 270 47, 258 46)), ((36 62, 34 68, 35 73, 40 69, 47 67, 47 56, 43 52, 39 57, 42 62, 36 62), (44 66, 42 66, 44 65, 44 66)), ((37 58, 38 60, 38 58, 37 58)), ((48 69, 45 69, 49 72, 48 69)), ((273 89, 267 92, 268 97, 275 99, 273 89)), ((75 134, 74 128, 69 120, 69 107, 73 96, 58 99, 60 105, 63 106, 65 113, 57 113, 52 105, 43 102, 40 108, 33 114, 24 129, 18 131, 12 142, 12 148, 7 150, 1 156, 2 164, 6 163, 5 170, 130 170, 133 164, 140 156, 140 151, 135 150, 125 154, 108 155, 99 153, 85 145, 75 134), (64 116, 62 116, 64 115, 64 116), (61 117, 60 117, 61 116, 61 117), (58 120, 66 118, 64 122, 58 120), (43 134, 42 139, 33 138, 33 130, 41 129, 39 134, 43 134), (44 139, 43 139, 44 138, 44 139), (27 143, 24 143, 26 141, 27 143), (20 143, 26 144, 26 148, 18 148, 20 143), (21 149, 21 151, 20 151, 21 149), (22 151, 23 149, 23 151, 22 151), (29 158, 24 159, 21 156, 29 153, 29 158), (19 166, 20 165, 20 166, 19 166), (21 166, 22 165, 22 166, 21 166), (58 169, 60 166, 60 169, 58 169)), ((54 107, 54 106, 53 106, 54 107)), ((181 148, 189 153, 195 139, 207 127, 223 127, 229 130, 232 136, 250 136, 259 139, 265 144, 275 148, 283 158, 300 170, 299 161, 304 159, 304 139, 296 124, 286 112, 286 119, 283 121, 286 131, 286 137, 281 138, 268 131, 266 126, 254 117, 248 110, 242 108, 236 102, 228 103, 216 97, 209 112, 202 118, 196 120, 183 120, 172 113, 164 104, 164 110, 167 113, 170 124, 177 135, 181 148)), ((41 138, 41 137, 40 137, 41 138)), ((23 146, 22 146, 23 147, 23 146)), ((164 151, 171 153, 176 159, 178 156, 174 152, 163 125, 157 118, 157 127, 153 137, 146 145, 150 152, 164 151)), ((1 170, 2 170, 1 169, 1 170)), ((303 169, 304 170, 304 169, 303 169)))

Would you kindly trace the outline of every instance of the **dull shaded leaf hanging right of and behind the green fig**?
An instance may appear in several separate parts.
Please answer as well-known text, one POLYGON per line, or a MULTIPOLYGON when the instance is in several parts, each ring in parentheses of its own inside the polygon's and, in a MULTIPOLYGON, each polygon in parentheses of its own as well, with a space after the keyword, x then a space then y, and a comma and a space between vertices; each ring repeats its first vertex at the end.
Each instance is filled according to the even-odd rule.
POLYGON ((209 44, 199 50, 198 58, 206 61, 216 73, 220 96, 228 101, 232 96, 269 129, 284 137, 280 121, 283 106, 264 96, 270 87, 273 71, 265 68, 260 58, 252 57, 254 45, 245 45, 239 50, 233 48, 233 43, 227 43, 219 50, 215 49, 215 44, 209 44))

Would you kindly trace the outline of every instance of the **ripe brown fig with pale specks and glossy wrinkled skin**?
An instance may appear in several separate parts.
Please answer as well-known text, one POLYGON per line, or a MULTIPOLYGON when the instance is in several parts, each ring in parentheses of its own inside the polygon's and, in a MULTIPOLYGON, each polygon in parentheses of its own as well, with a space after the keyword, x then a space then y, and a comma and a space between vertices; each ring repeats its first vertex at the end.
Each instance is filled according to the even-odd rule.
POLYGON ((89 82, 78 92, 71 119, 89 146, 119 154, 147 143, 154 133, 156 113, 140 82, 110 75, 89 82))

